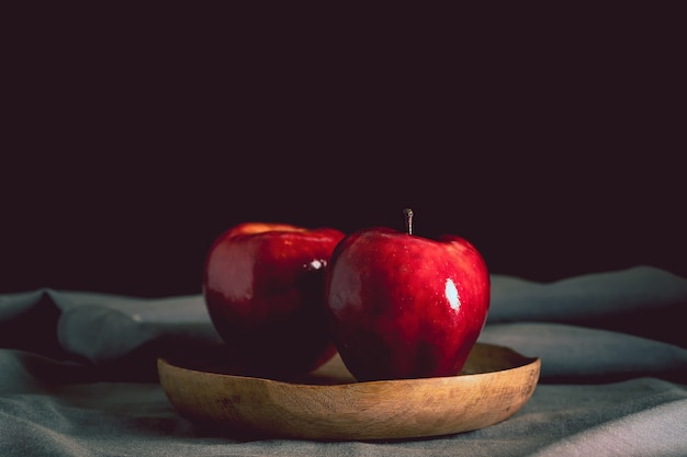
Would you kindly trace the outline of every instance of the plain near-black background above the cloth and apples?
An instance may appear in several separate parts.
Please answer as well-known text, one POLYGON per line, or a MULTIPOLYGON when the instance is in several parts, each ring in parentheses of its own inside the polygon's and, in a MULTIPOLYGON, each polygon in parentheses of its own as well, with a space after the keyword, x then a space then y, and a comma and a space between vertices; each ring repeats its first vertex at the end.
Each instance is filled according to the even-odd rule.
POLYGON ((676 12, 271 8, 10 16, 0 293, 195 294, 234 224, 406 206, 493 273, 687 276, 676 12))

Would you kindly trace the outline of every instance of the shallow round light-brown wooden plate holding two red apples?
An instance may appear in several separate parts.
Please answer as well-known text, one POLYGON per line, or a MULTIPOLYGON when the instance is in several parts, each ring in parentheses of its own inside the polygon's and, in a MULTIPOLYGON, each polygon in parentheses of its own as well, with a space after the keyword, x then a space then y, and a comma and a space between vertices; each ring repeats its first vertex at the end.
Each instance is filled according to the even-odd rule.
POLYGON ((486 427, 532 396, 539 357, 477 343, 459 376, 357 382, 336 355, 299 381, 223 373, 222 362, 159 358, 160 384, 192 421, 227 434, 394 439, 486 427))

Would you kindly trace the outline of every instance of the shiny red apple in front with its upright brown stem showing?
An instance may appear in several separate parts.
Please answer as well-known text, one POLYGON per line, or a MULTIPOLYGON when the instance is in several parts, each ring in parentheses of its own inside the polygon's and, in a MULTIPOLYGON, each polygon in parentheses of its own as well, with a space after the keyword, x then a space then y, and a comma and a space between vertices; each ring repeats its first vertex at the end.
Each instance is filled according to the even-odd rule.
POLYGON ((348 235, 327 271, 326 306, 359 381, 454 376, 484 328, 489 274, 465 239, 374 227, 348 235))

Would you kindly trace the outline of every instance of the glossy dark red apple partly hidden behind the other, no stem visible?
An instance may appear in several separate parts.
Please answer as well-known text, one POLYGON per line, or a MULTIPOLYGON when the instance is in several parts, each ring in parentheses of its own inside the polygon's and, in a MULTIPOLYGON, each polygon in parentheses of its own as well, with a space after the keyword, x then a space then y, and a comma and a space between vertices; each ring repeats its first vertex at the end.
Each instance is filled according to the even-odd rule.
POLYGON ((331 228, 245 222, 214 241, 203 296, 235 369, 283 378, 336 353, 324 288, 326 266, 342 238, 331 228))

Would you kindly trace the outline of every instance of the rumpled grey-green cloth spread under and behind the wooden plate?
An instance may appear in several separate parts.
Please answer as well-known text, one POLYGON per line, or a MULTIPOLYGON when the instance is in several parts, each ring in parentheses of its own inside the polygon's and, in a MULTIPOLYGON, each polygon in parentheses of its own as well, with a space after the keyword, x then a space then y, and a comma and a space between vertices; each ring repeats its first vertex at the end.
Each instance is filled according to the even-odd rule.
POLYGON ((542 361, 505 422, 393 442, 240 441, 180 416, 156 359, 219 342, 202 297, 0 295, 2 456, 687 456, 687 279, 493 275, 480 341, 542 361))

